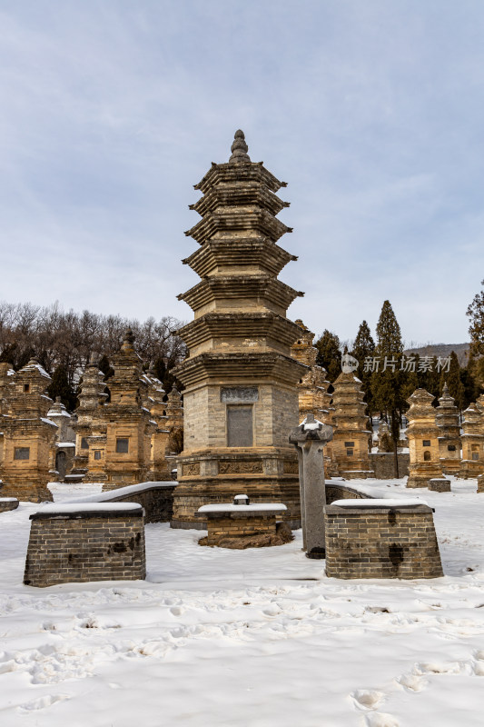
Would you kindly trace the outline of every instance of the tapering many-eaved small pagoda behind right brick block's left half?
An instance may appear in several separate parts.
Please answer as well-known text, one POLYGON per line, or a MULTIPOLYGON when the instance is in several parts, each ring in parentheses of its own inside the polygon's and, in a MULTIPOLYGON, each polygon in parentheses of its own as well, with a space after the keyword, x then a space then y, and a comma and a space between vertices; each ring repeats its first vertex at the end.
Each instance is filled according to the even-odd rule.
POLYGON ((343 371, 333 385, 334 434, 331 446, 338 463, 338 473, 347 480, 374 477, 369 452, 371 433, 361 381, 354 373, 343 371))

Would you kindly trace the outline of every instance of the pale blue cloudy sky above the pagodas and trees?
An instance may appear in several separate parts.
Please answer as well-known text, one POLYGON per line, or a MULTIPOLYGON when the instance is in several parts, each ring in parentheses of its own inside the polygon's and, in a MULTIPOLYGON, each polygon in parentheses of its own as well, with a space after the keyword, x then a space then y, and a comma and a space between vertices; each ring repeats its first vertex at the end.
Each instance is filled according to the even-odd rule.
POLYGON ((484 277, 481 0, 1 0, 0 299, 190 320, 183 235, 242 128, 288 183, 282 280, 352 338, 468 340, 484 277))

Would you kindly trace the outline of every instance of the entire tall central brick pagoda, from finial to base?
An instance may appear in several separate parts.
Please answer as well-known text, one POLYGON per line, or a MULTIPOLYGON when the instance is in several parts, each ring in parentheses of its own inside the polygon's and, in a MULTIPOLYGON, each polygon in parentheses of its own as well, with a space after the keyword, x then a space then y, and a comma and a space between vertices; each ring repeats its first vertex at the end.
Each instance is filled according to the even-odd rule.
POLYGON ((184 449, 178 458, 173 527, 202 527, 198 508, 282 502, 300 521, 298 464, 288 442, 298 424, 296 384, 306 366, 291 357, 301 334, 286 311, 301 293, 278 280, 294 255, 279 246, 291 232, 276 218, 286 186, 251 161, 242 131, 232 156, 213 164, 191 206, 202 219, 187 235, 200 245, 184 264, 202 278, 179 299, 194 312, 179 331, 189 356, 176 375, 185 386, 184 449))

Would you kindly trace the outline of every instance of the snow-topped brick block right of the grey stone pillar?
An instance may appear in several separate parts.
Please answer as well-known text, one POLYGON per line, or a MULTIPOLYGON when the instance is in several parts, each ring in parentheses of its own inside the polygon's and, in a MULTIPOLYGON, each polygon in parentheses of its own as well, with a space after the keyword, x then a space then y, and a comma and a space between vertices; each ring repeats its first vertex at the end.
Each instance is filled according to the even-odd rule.
POLYGON ((326 574, 333 578, 438 578, 432 509, 419 501, 336 501, 325 508, 326 574))

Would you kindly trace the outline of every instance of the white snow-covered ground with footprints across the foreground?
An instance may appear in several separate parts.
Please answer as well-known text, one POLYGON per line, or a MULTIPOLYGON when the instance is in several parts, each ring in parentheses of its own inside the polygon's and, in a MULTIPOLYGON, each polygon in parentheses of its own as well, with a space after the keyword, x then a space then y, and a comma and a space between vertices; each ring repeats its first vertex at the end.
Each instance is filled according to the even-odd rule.
MULTIPOLYGON (((93 487, 52 489, 60 502, 93 487)), ((301 531, 232 551, 151 524, 145 582, 35 589, 22 578, 38 505, 0 514, 1 727, 481 727, 484 494, 452 488, 388 483, 436 508, 433 581, 326 578, 301 531)))

